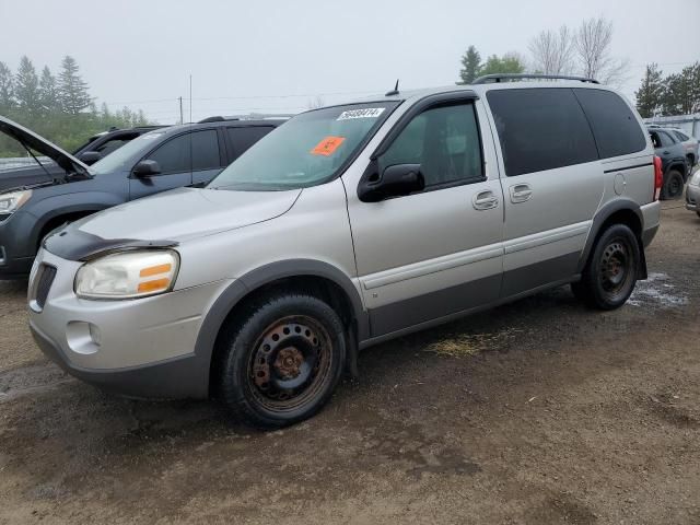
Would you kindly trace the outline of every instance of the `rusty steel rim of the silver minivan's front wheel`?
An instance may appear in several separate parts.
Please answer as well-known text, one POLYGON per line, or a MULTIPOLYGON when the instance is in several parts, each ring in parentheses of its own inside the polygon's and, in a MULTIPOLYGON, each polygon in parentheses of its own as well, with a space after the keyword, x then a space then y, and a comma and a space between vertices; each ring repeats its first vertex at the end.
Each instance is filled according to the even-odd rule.
POLYGON ((287 412, 312 399, 326 383, 332 339, 316 319, 296 315, 270 324, 247 365, 248 387, 267 410, 287 412))

